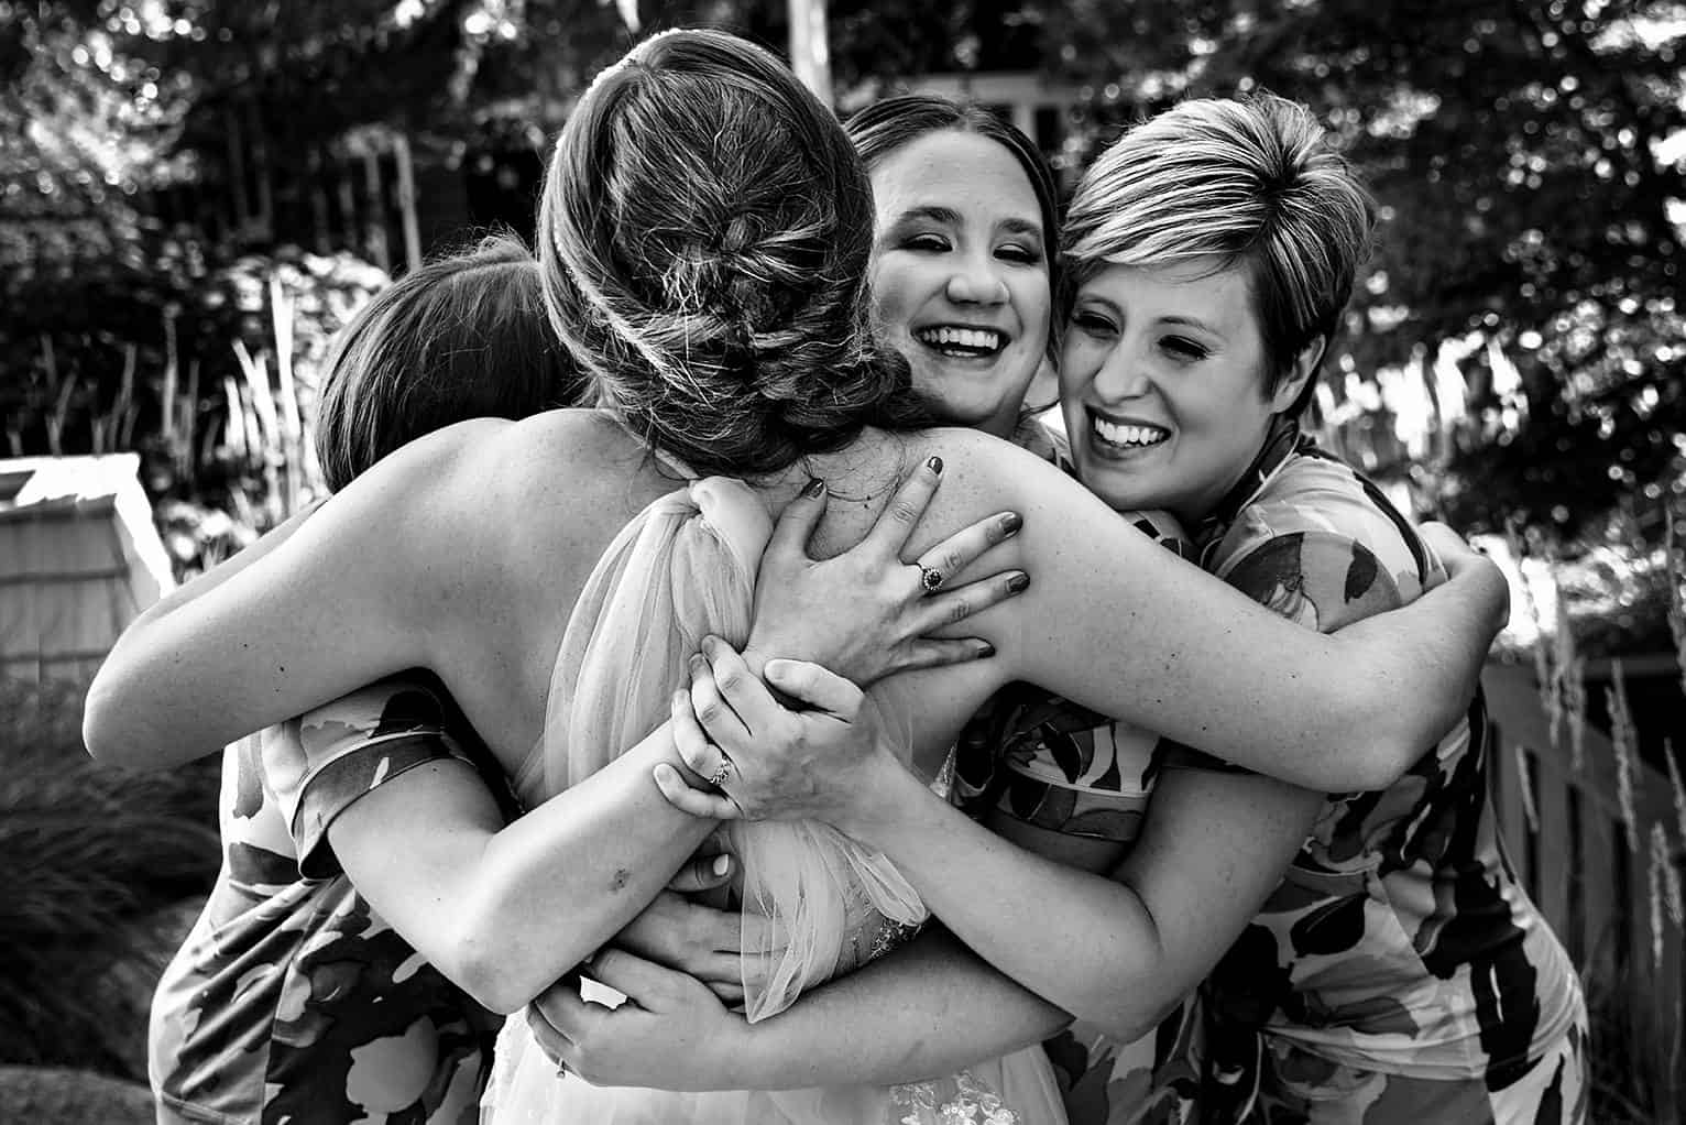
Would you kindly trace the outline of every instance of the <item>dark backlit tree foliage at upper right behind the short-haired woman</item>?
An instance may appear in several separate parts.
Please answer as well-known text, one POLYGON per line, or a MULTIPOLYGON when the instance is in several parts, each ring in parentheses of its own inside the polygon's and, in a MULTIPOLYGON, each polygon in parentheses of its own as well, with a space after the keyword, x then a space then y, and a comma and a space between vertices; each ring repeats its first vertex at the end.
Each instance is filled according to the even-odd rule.
POLYGON ((1049 35, 1096 86, 1093 137, 1254 88, 1325 116, 1384 216, 1345 369, 1497 344, 1463 349, 1470 413, 1438 403, 1460 521, 1659 511, 1686 428, 1686 5, 1135 0, 1059 5, 1049 35))

